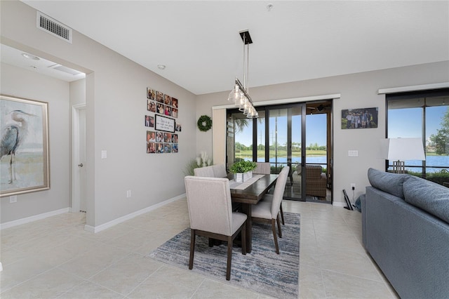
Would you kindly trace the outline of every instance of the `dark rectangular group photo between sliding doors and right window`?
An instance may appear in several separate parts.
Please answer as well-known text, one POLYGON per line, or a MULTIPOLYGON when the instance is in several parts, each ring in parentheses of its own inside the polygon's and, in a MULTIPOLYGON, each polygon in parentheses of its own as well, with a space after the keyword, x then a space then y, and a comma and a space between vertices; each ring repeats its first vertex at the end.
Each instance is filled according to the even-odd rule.
POLYGON ((377 128, 378 107, 342 109, 342 129, 377 128))

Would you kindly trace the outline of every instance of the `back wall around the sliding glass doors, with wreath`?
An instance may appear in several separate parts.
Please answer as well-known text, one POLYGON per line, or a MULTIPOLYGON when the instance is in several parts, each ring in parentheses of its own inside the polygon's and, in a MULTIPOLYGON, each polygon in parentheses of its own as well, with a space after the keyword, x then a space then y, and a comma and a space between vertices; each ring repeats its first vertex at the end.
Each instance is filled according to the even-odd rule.
MULTIPOLYGON (((384 169, 384 160, 377 157, 379 157, 378 141, 385 138, 385 96, 378 95, 377 91, 380 88, 441 82, 449 82, 448 61, 273 86, 252 87, 250 95, 254 102, 258 102, 341 94, 340 99, 334 100, 333 106, 333 192, 334 204, 344 206, 343 189, 351 190, 350 184, 354 182, 356 184, 355 198, 357 198, 358 195, 365 192, 365 187, 369 185, 366 175, 368 168, 384 169), (379 107, 378 128, 342 130, 341 110, 363 107, 379 107), (358 157, 348 157, 348 150, 358 150, 358 157)), ((229 80, 229 89, 231 88, 232 80, 229 80)), ((213 106, 229 105, 228 95, 229 91, 199 95, 196 118, 198 119, 202 114, 212 115, 213 106)), ((211 153, 212 132, 197 132, 196 147, 211 153)), ((350 192, 349 197, 351 197, 350 192)))

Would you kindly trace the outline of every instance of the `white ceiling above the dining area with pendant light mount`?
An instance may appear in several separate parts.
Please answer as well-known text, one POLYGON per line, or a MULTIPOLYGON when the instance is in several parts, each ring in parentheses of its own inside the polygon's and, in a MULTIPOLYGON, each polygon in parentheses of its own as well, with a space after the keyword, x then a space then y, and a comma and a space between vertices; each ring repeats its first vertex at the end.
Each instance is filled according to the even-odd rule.
POLYGON ((449 60, 449 1, 23 2, 196 95, 243 79, 242 29, 250 87, 449 60))

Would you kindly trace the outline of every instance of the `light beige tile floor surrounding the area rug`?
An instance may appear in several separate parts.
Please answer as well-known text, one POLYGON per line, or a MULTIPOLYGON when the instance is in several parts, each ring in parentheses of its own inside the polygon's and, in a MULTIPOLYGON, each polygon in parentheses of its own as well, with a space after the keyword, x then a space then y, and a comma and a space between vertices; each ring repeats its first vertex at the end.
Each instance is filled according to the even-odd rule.
MULTIPOLYGON (((300 298, 398 298, 361 245, 361 213, 297 201, 283 210, 301 214, 300 298)), ((1 230, 0 297, 267 298, 145 258, 189 227, 185 199, 97 234, 84 223, 65 213, 1 230)))

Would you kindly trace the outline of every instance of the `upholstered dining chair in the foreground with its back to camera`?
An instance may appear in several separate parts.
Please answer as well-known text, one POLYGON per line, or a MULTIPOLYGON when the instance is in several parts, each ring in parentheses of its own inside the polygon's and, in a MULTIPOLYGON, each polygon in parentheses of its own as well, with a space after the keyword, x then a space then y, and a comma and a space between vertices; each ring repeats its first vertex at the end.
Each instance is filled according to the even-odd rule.
POLYGON ((231 279, 232 244, 241 232, 241 253, 246 255, 246 214, 232 211, 227 178, 185 177, 190 218, 189 270, 194 267, 196 236, 227 241, 226 280, 231 279))

